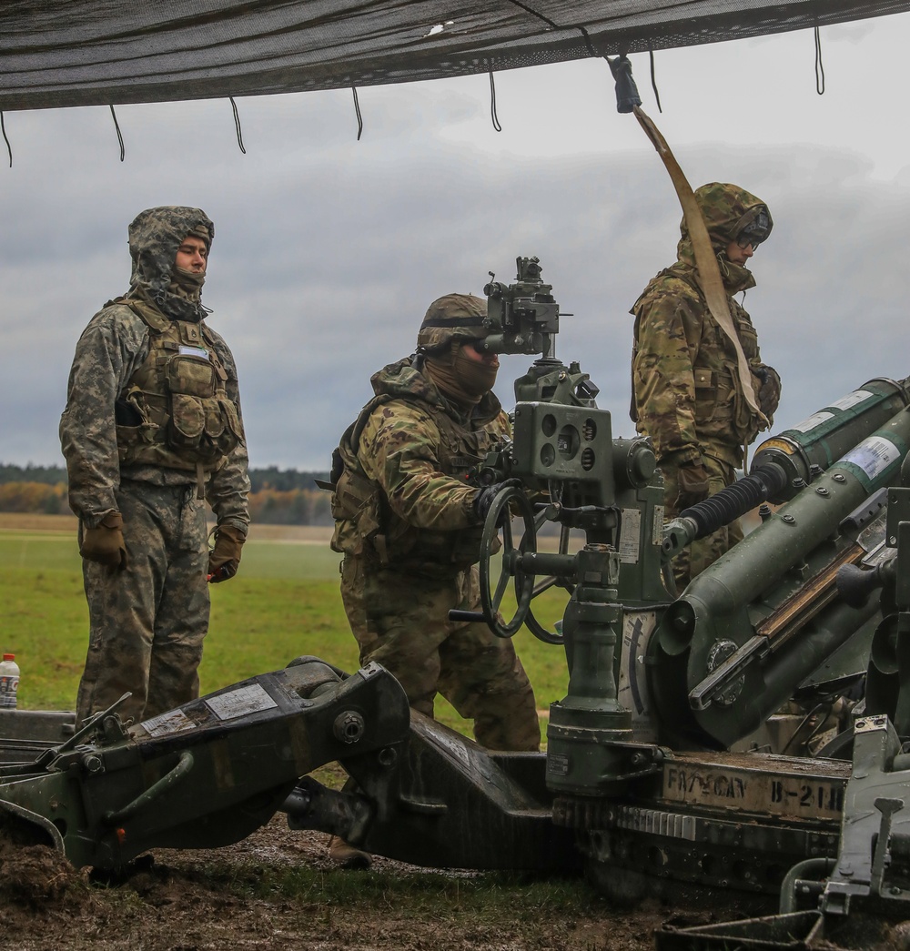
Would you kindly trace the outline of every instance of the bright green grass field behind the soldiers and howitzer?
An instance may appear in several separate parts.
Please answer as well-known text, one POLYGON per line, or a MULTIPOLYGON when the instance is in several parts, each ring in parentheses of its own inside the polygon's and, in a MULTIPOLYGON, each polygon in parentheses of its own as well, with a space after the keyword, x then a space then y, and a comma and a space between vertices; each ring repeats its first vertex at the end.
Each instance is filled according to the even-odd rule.
MULTIPOLYGON (((203 692, 278 670, 301 654, 357 670, 357 645, 339 595, 339 555, 328 538, 324 529, 254 526, 240 573, 212 588, 203 692)), ((20 708, 73 708, 88 631, 75 519, 3 515, 0 565, 0 649, 15 653, 22 670, 20 708)), ((543 623, 560 617, 566 597, 546 592, 534 601, 535 614, 543 623)), ((552 701, 566 694, 564 652, 527 630, 514 640, 546 719, 552 701)), ((470 725, 441 698, 436 715, 470 735, 470 725)))

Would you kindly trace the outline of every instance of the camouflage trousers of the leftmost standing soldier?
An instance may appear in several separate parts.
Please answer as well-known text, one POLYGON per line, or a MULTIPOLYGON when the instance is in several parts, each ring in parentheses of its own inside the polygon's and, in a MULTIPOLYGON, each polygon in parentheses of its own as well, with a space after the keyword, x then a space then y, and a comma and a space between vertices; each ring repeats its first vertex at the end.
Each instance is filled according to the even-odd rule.
POLYGON ((208 631, 208 540, 196 486, 124 481, 123 572, 83 562, 88 600, 86 670, 77 722, 109 707, 123 720, 147 720, 199 696, 199 664, 208 631))

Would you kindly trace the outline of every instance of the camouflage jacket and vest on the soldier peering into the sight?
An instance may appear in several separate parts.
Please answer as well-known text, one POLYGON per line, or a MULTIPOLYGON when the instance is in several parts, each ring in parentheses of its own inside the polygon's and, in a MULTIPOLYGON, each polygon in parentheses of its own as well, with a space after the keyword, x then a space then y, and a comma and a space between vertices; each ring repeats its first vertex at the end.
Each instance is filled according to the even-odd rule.
POLYGON ((371 380, 376 394, 341 437, 332 547, 400 571, 440 575, 479 557, 482 524, 468 471, 510 433, 493 393, 470 417, 420 372, 419 358, 371 380))

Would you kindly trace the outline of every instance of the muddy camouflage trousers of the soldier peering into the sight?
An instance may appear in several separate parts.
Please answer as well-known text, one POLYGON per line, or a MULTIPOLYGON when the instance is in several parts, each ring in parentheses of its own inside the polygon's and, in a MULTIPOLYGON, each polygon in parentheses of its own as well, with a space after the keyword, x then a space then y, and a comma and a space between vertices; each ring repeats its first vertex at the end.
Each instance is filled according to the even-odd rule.
POLYGON ((398 573, 347 555, 341 599, 360 647, 404 688, 411 706, 433 716, 436 693, 474 720, 489 749, 540 748, 537 705, 511 640, 486 624, 453 622, 449 611, 477 611, 477 569, 437 579, 398 573))

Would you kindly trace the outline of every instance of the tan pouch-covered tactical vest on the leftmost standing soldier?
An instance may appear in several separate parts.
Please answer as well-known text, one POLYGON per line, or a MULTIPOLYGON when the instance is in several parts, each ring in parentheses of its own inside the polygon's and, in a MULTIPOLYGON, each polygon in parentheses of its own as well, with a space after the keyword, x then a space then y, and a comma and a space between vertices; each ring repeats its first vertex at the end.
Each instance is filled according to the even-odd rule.
POLYGON ((227 373, 202 322, 170 320, 143 301, 120 298, 148 327, 145 362, 117 400, 121 465, 209 473, 243 441, 227 373))

